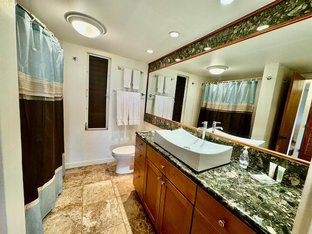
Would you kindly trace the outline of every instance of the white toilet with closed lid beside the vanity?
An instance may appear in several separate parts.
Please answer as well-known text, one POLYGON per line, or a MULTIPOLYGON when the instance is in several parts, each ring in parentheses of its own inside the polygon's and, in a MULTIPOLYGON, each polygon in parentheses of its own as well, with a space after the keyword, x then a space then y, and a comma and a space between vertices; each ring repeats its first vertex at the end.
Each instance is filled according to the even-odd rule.
POLYGON ((112 150, 112 156, 117 160, 117 174, 128 174, 133 172, 135 151, 136 148, 134 145, 121 146, 112 150))

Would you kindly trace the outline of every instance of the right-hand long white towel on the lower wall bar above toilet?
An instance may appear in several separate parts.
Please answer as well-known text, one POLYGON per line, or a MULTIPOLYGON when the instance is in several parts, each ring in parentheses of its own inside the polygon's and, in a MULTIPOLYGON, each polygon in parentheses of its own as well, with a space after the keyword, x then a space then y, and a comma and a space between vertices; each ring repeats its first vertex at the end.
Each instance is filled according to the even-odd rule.
POLYGON ((141 94, 129 93, 129 125, 140 124, 141 94))

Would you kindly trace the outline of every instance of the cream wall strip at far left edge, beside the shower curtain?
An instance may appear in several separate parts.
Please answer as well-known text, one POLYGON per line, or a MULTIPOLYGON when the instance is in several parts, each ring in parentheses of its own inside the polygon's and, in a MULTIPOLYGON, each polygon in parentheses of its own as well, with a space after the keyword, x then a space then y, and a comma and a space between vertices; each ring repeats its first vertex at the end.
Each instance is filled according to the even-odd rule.
POLYGON ((25 233, 15 2, 0 1, 0 234, 25 233))

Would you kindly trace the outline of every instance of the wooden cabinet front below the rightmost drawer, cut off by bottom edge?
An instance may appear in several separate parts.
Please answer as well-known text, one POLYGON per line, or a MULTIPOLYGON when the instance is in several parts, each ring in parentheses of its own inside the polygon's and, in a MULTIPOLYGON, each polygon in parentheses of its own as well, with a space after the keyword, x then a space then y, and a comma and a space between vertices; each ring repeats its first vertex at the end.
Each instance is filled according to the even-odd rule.
POLYGON ((191 234, 220 234, 215 227, 196 208, 194 210, 191 234))

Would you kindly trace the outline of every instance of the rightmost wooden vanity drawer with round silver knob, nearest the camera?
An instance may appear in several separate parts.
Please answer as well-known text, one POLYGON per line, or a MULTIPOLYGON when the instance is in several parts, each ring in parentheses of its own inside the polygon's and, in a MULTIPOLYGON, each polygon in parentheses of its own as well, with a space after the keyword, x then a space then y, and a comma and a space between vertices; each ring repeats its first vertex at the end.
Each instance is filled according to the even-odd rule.
POLYGON ((220 234, 255 234, 247 225, 201 188, 197 189, 195 207, 220 234), (224 223, 224 227, 221 227, 222 223, 221 226, 219 225, 220 220, 224 223))

